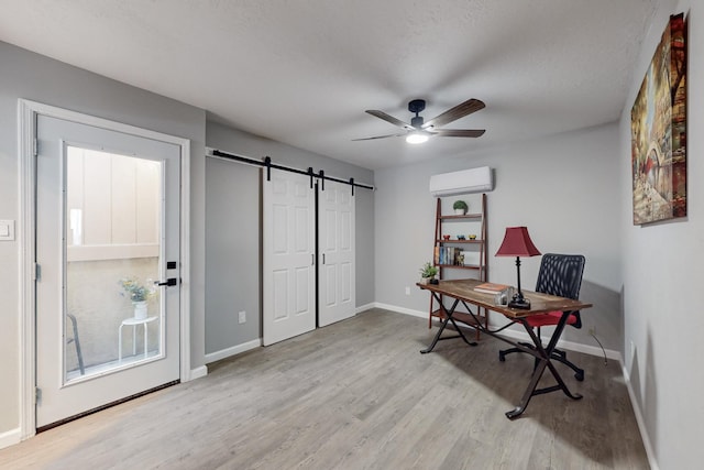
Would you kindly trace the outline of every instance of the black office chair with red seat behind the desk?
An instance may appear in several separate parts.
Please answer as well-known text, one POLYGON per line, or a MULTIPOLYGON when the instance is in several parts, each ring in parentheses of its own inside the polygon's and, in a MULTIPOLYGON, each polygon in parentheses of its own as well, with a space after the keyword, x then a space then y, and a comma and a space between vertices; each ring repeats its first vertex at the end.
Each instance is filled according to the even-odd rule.
MULTIPOLYGON (((582 274, 584 272, 584 256, 581 254, 554 254, 547 253, 540 262, 540 271, 538 273, 538 282, 536 283, 536 292, 543 294, 558 295, 566 298, 579 298, 580 287, 582 286, 582 274)), ((547 314, 535 315, 527 319, 528 325, 537 329, 538 338, 540 338, 540 328, 544 326, 557 325, 560 321, 562 311, 550 311, 547 314)), ((568 317, 568 325, 574 328, 582 328, 582 319, 579 311, 572 311, 568 317)), ((521 346, 535 348, 534 345, 521 342, 521 346)), ((504 362, 506 354, 512 352, 524 352, 518 348, 505 349, 498 351, 498 360, 504 362)), ((566 358, 565 351, 554 349, 551 359, 562 362, 574 371, 574 378, 580 382, 584 380, 584 370, 578 368, 566 358)), ((538 359, 536 359, 536 367, 538 359)))

